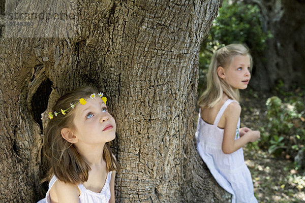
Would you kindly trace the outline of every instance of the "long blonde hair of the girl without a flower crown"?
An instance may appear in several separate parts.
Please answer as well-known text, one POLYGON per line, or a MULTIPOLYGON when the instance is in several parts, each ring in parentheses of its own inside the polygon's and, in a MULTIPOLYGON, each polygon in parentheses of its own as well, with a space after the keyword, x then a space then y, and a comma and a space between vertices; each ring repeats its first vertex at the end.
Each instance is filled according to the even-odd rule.
POLYGON ((229 98, 239 101, 238 89, 233 89, 224 80, 219 78, 217 74, 218 67, 228 67, 232 62, 233 57, 236 55, 248 55, 250 58, 250 69, 252 69, 252 56, 246 45, 230 44, 218 49, 211 58, 211 63, 207 72, 207 87, 198 100, 198 105, 200 107, 214 107, 221 100, 223 93, 227 94, 229 98))

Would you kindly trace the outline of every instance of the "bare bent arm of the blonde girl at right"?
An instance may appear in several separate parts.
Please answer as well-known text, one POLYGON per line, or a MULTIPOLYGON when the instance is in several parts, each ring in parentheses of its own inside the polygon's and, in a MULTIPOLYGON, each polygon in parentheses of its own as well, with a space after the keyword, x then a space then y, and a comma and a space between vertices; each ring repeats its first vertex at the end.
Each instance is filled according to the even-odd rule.
POLYGON ((259 131, 254 131, 249 128, 239 139, 235 140, 237 122, 240 116, 241 108, 239 104, 231 103, 226 111, 225 116, 225 129, 224 138, 222 143, 222 151, 225 154, 231 154, 239 148, 245 146, 249 142, 255 142, 260 137, 259 131))

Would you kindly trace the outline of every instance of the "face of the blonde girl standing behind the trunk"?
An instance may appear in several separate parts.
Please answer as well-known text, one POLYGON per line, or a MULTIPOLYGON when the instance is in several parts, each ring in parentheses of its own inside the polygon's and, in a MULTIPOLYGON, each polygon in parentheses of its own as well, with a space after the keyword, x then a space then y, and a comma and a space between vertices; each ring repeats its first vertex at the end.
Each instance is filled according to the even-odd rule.
POLYGON ((248 55, 236 55, 225 68, 224 80, 234 89, 246 89, 251 78, 250 58, 248 55))

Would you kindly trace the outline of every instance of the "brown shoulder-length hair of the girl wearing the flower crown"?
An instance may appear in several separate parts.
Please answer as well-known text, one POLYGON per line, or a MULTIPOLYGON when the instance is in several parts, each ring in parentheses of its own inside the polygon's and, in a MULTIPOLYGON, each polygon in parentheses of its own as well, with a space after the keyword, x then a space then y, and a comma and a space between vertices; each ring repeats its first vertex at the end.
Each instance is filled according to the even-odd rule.
MULTIPOLYGON (((75 89, 60 97, 52 112, 68 109, 71 103, 76 104, 80 98, 88 98, 92 93, 97 94, 92 87, 75 89)), ((75 129, 73 119, 74 111, 71 109, 66 115, 57 114, 45 129, 43 151, 49 163, 49 174, 44 181, 50 180, 53 175, 65 183, 79 184, 88 180, 90 166, 83 160, 75 146, 62 137, 63 128, 75 129)), ((108 171, 119 170, 119 164, 107 143, 104 146, 103 156, 108 171)))

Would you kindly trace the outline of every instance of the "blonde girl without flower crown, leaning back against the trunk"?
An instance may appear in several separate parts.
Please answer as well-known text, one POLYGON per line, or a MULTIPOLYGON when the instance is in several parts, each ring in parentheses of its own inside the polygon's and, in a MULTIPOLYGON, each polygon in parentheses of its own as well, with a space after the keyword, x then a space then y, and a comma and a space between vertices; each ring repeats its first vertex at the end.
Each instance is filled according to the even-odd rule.
POLYGON ((231 44, 212 56, 207 88, 200 96, 196 131, 197 150, 221 187, 232 194, 232 203, 254 203, 253 183, 242 147, 260 138, 260 132, 239 128, 239 89, 251 78, 252 57, 246 46, 231 44))

